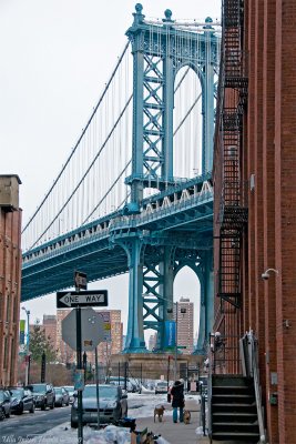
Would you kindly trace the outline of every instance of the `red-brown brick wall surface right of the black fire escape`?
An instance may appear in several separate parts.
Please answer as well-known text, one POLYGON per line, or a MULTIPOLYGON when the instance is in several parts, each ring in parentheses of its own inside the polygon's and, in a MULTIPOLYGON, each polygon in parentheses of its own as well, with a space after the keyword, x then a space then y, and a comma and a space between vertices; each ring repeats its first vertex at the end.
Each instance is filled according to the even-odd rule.
POLYGON ((248 225, 242 324, 238 314, 236 324, 234 316, 224 323, 228 334, 251 327, 258 337, 268 442, 296 443, 296 1, 245 2, 244 50, 248 101, 241 169, 248 225), (263 281, 267 269, 278 273, 263 281), (278 404, 272 405, 275 393, 278 404))

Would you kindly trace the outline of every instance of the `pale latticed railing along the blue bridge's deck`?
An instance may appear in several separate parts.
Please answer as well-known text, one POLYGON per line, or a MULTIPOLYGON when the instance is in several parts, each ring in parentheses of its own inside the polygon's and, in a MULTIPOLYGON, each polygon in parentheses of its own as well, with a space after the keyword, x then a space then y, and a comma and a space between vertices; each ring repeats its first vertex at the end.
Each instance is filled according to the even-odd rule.
MULTIPOLYGON (((210 204, 213 201, 213 189, 207 179, 210 179, 210 174, 197 176, 186 183, 145 199, 140 214, 122 215, 122 211, 116 211, 29 250, 22 254, 22 268, 27 269, 35 263, 69 252, 82 243, 86 245, 99 240, 108 240, 110 233, 114 232, 114 230, 145 229, 152 222, 166 220, 170 215, 176 215, 206 203, 210 204)), ((212 208, 210 209, 211 211, 212 208)), ((202 219, 202 215, 197 214, 195 218, 193 215, 188 218, 202 219)), ((170 229, 170 226, 166 229, 170 229)))

